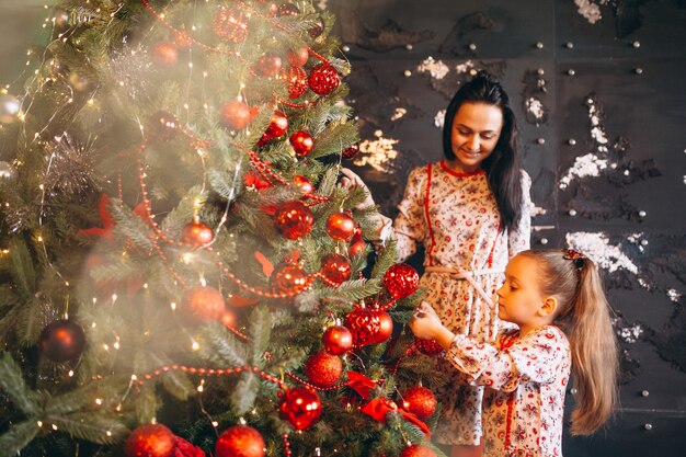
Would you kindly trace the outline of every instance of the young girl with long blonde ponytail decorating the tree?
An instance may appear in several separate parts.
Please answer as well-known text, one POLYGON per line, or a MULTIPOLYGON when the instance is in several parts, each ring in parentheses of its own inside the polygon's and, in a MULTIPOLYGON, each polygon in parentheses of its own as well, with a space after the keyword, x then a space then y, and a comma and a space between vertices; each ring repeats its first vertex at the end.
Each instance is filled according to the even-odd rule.
POLYGON ((560 457, 570 365, 573 435, 597 430, 616 400, 617 346, 598 272, 575 251, 524 251, 507 264, 498 297, 500 318, 519 328, 494 344, 456 335, 426 302, 410 328, 436 340, 465 381, 488 387, 484 456, 560 457))

